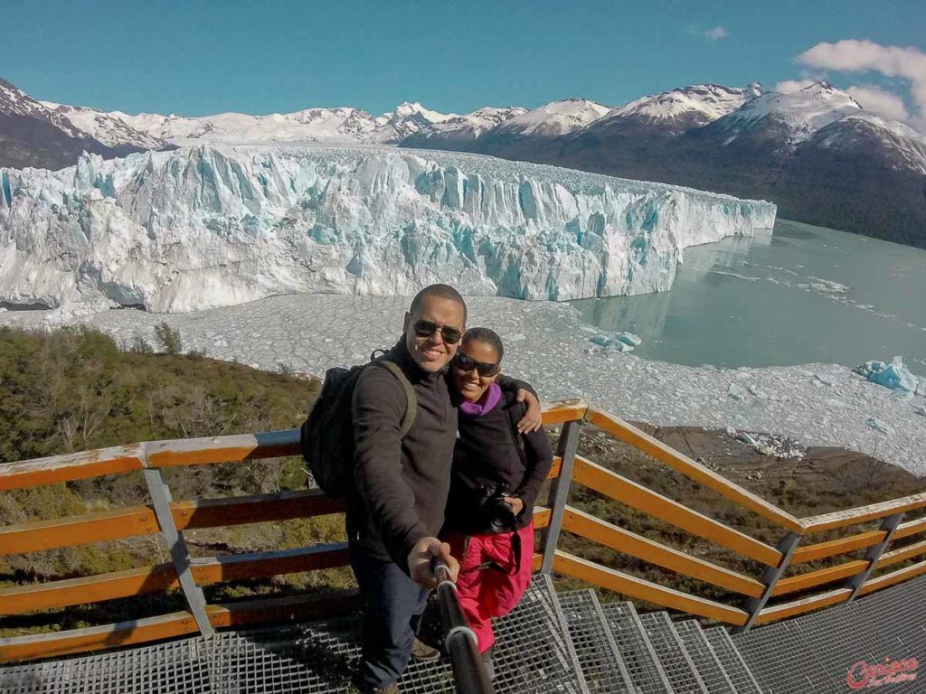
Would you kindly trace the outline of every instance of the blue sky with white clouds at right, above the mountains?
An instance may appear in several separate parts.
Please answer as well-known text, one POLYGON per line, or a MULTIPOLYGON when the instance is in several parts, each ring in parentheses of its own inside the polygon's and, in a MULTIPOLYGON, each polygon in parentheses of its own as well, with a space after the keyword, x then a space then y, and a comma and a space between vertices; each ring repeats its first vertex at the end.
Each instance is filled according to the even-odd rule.
POLYGON ((184 116, 620 105, 825 78, 922 125, 926 0, 27 0, 0 14, 0 77, 43 100, 184 116))

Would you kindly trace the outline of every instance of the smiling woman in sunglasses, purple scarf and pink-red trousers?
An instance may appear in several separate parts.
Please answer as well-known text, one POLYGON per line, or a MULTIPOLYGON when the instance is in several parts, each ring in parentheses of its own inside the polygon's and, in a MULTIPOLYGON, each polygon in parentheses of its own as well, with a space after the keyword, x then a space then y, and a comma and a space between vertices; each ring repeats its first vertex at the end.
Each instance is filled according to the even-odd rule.
POLYGON ((544 430, 519 434, 524 405, 495 383, 503 354, 493 330, 470 328, 450 366, 462 402, 444 533, 490 673, 492 619, 511 612, 531 582, 533 502, 553 463, 544 430))

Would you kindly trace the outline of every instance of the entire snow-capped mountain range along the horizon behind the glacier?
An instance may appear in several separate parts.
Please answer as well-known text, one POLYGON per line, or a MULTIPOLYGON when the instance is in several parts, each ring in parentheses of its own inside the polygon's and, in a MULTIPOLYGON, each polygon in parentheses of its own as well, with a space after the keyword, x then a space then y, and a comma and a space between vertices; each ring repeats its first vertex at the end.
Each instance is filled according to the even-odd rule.
POLYGON ((402 104, 185 118, 59 105, 0 80, 0 166, 61 168, 201 143, 454 150, 768 199, 782 217, 926 247, 926 138, 819 81, 700 84, 613 107, 566 99, 443 114, 402 104))

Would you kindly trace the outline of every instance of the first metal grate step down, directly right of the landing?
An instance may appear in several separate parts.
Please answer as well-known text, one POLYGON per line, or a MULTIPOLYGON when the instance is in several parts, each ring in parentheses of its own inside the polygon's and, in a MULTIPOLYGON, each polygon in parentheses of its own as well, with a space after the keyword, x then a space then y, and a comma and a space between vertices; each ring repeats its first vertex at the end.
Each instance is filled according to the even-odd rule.
POLYGON ((557 597, 589 692, 634 694, 631 675, 620 658, 594 590, 571 590, 557 597))

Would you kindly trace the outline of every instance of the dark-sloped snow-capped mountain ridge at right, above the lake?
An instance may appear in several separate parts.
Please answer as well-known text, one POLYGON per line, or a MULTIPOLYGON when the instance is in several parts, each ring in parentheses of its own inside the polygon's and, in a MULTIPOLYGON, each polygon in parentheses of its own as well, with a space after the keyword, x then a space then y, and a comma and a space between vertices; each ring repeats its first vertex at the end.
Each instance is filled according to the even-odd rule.
POLYGON ((919 133, 865 111, 827 82, 794 93, 750 85, 742 97, 705 123, 718 110, 676 111, 675 98, 657 95, 553 141, 521 142, 514 154, 506 147, 482 152, 770 199, 782 217, 926 246, 919 133), (664 108, 654 113, 656 105, 664 108), (641 112, 645 119, 636 117, 641 112), (677 118, 653 118, 664 114, 697 118, 689 127, 684 115, 681 127, 677 118))

